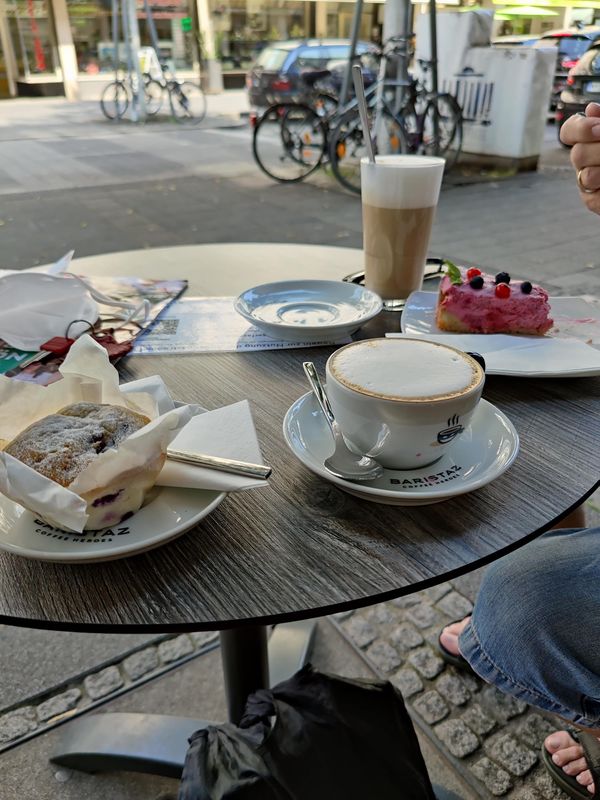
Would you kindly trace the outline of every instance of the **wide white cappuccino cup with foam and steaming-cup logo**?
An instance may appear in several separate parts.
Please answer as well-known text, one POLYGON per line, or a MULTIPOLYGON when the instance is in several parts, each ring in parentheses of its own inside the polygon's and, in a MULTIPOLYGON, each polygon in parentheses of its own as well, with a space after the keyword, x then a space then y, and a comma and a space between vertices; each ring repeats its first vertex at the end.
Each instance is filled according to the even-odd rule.
POLYGON ((423 339, 367 339, 333 353, 327 394, 346 443, 388 469, 437 461, 468 427, 485 372, 423 339))

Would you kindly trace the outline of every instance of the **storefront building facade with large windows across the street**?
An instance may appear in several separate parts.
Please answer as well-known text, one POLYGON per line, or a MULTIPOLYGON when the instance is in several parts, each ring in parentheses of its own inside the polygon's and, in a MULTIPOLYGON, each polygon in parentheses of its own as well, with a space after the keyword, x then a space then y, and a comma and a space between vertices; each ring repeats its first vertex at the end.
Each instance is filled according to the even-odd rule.
MULTIPOLYGON (((466 1, 439 3, 440 11, 466 1)), ((496 34, 537 34, 576 19, 592 23, 600 15, 593 0, 571 7, 544 0, 539 8, 548 15, 529 17, 512 13, 510 2, 483 0, 496 10, 496 34)), ((326 0, 150 0, 163 58, 178 72, 197 74, 202 48, 204 57, 220 64, 226 86, 243 85, 244 72, 269 42, 347 38, 354 7, 326 0)), ((142 44, 149 45, 143 0, 136 8, 142 44)), ((416 4, 416 13, 426 10, 416 4)), ((378 40, 382 24, 381 0, 365 2, 360 37, 378 40)), ((0 0, 0 98, 85 97, 86 87, 110 80, 113 50, 112 0, 0 0)))

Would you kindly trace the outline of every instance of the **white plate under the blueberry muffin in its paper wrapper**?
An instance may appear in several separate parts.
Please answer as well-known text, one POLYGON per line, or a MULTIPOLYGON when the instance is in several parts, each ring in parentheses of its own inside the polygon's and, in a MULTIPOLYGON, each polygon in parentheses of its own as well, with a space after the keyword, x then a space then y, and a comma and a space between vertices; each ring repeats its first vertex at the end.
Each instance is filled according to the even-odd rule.
POLYGON ((0 495, 0 549, 38 561, 112 561, 175 539, 210 514, 226 492, 156 486, 150 501, 114 528, 72 533, 0 495))

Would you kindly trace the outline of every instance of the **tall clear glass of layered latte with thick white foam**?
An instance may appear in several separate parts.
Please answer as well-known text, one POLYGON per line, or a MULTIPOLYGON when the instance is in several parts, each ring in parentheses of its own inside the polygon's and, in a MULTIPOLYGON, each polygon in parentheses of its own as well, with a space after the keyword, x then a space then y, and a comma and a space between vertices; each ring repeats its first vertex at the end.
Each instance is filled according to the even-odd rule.
POLYGON ((365 286, 388 311, 422 286, 444 163, 433 156, 361 161, 365 286))

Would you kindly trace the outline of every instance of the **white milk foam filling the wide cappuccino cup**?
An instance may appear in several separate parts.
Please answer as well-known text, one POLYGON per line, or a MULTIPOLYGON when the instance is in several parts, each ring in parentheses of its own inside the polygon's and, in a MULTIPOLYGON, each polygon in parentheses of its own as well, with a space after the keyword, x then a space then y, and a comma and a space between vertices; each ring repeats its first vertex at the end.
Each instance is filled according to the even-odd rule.
POLYGON ((470 356, 416 339, 371 339, 347 345, 333 354, 330 369, 350 389, 408 401, 457 397, 483 377, 470 356))

